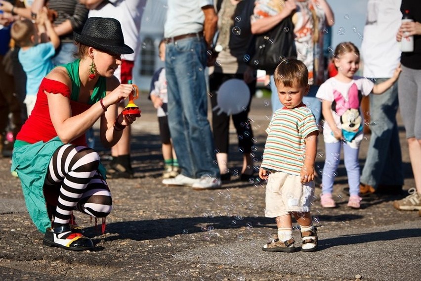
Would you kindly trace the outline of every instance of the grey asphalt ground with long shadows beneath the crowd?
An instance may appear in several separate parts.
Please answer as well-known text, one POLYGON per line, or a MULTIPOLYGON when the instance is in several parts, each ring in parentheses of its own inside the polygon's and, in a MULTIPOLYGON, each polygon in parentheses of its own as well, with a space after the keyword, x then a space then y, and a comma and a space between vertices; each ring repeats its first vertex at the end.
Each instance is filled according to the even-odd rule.
MULTIPOLYGON (((341 161, 334 187, 337 208, 322 208, 316 188, 312 214, 319 250, 273 253, 261 250, 276 234, 274 219, 264 217, 265 186, 238 180, 242 155, 234 128, 231 181, 213 190, 165 187, 156 111, 145 95, 136 104, 142 116, 132 132, 135 178, 108 180, 114 209, 107 218, 106 234, 76 213, 85 234, 95 242, 95 251, 44 246, 43 235, 26 211, 19 180, 10 175, 10 158, 0 158, 0 280, 421 280, 420 217, 418 212, 392 206, 415 186, 399 115, 403 194, 374 194, 364 198, 361 209, 348 208, 341 161)), ((253 99, 255 165, 260 164, 270 114, 269 98, 253 99)), ((361 145, 361 167, 369 139, 367 135, 361 145)), ((107 163, 109 151, 96 143, 107 163)), ((317 169, 323 169, 321 137, 316 161, 317 169)), ((296 223, 294 228, 300 245, 296 223)))

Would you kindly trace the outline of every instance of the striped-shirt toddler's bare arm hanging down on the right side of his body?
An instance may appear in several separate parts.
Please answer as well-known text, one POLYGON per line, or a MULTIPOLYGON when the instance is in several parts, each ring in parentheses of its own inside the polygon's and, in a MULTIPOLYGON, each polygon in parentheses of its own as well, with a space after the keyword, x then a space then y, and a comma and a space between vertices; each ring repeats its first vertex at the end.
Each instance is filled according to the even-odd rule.
POLYGON ((308 134, 305 139, 304 165, 301 168, 301 183, 309 183, 314 180, 314 162, 317 152, 317 131, 308 134))

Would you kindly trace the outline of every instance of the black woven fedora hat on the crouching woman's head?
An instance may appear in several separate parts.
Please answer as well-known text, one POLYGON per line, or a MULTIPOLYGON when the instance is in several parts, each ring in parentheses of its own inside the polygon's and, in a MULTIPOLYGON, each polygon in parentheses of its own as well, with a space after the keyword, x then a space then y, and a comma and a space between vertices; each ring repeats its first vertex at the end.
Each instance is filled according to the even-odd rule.
POLYGON ((121 24, 114 18, 90 17, 86 20, 82 32, 73 33, 76 42, 113 54, 133 53, 133 49, 124 44, 121 24))

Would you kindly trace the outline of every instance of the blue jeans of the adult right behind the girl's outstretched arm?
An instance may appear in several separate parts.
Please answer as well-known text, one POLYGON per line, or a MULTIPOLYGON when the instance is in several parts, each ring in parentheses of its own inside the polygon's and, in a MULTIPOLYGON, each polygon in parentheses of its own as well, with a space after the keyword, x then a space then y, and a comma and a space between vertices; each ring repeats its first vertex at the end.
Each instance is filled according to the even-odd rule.
MULTIPOLYGON (((386 81, 378 78, 376 84, 386 81)), ((371 138, 361 183, 403 185, 402 154, 396 113, 398 111, 398 84, 383 94, 370 94, 371 138)))

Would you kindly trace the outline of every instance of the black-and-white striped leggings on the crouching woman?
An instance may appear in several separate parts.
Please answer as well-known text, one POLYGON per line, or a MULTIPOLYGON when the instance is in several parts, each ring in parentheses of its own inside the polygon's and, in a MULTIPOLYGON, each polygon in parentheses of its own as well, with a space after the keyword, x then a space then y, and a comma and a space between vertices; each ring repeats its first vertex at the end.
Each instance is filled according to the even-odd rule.
POLYGON ((57 205, 54 225, 69 224, 75 209, 95 218, 110 214, 111 193, 98 165, 98 153, 86 146, 65 144, 54 152, 44 182, 47 203, 57 205))

